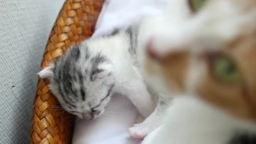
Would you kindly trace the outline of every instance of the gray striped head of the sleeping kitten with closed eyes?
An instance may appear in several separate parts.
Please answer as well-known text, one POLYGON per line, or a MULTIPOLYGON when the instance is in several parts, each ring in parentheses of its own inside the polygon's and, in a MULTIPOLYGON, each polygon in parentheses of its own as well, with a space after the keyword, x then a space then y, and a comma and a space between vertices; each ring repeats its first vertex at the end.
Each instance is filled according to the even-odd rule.
POLYGON ((113 67, 106 56, 90 53, 81 43, 38 73, 69 113, 91 120, 104 112, 114 87, 113 67))

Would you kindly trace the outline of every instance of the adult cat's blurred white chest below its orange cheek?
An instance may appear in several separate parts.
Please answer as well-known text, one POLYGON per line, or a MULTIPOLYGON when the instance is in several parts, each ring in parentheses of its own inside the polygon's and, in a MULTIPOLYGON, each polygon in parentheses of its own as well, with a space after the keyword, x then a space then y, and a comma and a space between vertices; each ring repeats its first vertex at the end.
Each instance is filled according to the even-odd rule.
POLYGON ((234 119, 197 98, 173 100, 167 120, 142 144, 228 144, 236 133, 255 133, 255 125, 234 119))

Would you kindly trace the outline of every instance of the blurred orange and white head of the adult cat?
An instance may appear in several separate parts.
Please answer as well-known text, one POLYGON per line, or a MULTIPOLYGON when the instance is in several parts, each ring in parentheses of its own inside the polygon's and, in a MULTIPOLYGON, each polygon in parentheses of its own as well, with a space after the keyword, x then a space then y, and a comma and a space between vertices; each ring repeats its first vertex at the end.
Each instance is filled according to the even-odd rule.
POLYGON ((256 121, 256 1, 176 3, 175 15, 163 16, 144 44, 144 69, 157 77, 155 86, 256 121))

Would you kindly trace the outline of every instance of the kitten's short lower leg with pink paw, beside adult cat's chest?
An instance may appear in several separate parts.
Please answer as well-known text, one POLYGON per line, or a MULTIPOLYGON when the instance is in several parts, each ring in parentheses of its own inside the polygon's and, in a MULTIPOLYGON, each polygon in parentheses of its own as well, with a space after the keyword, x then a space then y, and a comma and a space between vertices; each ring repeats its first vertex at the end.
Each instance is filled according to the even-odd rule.
POLYGON ((163 119, 168 107, 170 107, 170 103, 171 99, 160 96, 154 112, 142 123, 135 124, 132 128, 128 129, 130 135, 136 138, 143 138, 148 133, 155 130, 155 128, 163 123, 163 119))

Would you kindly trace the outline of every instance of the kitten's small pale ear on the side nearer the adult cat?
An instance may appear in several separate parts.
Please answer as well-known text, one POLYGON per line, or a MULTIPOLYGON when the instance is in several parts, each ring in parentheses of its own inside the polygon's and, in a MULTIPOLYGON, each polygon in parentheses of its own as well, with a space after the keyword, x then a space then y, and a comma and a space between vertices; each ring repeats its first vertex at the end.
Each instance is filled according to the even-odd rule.
POLYGON ((93 70, 91 80, 102 79, 112 75, 114 67, 112 64, 99 64, 99 66, 93 70))

